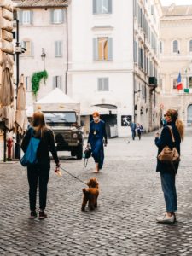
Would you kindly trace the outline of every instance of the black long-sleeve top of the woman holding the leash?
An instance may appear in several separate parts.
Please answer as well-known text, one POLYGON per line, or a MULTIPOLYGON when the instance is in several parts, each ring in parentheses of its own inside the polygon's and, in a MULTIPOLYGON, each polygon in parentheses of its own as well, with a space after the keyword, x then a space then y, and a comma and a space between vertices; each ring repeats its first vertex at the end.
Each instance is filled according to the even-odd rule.
MULTIPOLYGON (((22 140, 21 148, 24 152, 26 152, 26 148, 28 147, 30 138, 32 137, 32 128, 26 131, 26 135, 22 140)), ((35 131, 33 130, 33 137, 38 137, 40 139, 40 143, 38 145, 38 164, 49 165, 50 157, 49 152, 51 152, 53 159, 55 160, 55 164, 59 163, 59 159, 57 156, 56 148, 55 148, 55 141, 54 141, 54 134, 53 131, 47 129, 44 131, 44 136, 36 136, 35 131)))

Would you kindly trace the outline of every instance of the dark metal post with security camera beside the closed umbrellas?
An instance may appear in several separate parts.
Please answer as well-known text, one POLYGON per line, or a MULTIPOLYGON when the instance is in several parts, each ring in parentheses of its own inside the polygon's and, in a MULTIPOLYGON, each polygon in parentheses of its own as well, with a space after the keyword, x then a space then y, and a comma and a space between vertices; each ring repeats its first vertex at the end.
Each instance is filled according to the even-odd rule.
MULTIPOLYGON (((19 20, 16 19, 16 47, 20 46, 19 42, 19 20)), ((20 52, 17 50, 16 55, 16 102, 17 102, 17 93, 20 79, 20 52)), ((20 134, 16 133, 16 143, 15 143, 15 159, 20 159, 20 134)))

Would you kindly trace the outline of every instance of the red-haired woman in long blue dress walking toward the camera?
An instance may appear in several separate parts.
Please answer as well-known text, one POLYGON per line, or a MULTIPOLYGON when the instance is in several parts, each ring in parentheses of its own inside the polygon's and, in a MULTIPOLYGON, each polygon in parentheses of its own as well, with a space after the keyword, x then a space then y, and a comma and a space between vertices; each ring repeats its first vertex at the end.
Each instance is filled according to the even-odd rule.
POLYGON ((95 172, 98 173, 102 169, 104 161, 104 146, 107 146, 108 139, 105 128, 105 122, 100 119, 98 112, 93 113, 93 120, 90 122, 90 133, 87 142, 87 148, 91 148, 92 156, 96 163, 95 172))

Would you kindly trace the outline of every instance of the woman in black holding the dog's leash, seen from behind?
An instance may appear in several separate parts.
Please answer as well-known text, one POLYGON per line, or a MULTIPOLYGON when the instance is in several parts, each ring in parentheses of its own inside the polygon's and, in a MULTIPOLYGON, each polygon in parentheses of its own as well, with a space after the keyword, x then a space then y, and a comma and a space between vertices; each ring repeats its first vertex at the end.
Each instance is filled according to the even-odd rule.
POLYGON ((60 166, 59 159, 55 148, 55 140, 53 132, 46 126, 44 113, 38 111, 33 114, 32 127, 26 131, 26 135, 22 140, 21 148, 26 152, 26 148, 31 137, 40 139, 37 152, 37 164, 27 166, 27 178, 29 183, 29 203, 30 203, 30 218, 36 218, 36 197, 37 189, 39 190, 39 219, 47 218, 44 212, 47 201, 47 186, 49 182, 50 158, 51 152, 56 167, 60 166))

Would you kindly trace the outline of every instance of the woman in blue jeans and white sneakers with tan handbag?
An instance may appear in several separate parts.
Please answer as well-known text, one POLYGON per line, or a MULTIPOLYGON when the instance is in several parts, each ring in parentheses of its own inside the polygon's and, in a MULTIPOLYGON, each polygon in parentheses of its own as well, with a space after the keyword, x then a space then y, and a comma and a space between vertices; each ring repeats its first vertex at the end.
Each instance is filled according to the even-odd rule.
MULTIPOLYGON (((174 109, 168 109, 166 111, 165 120, 166 124, 164 124, 161 134, 155 134, 154 142, 158 147, 158 155, 166 146, 169 148, 177 148, 177 152, 180 155, 180 143, 181 140, 183 140, 184 134, 183 122, 178 119, 178 113, 174 109), (172 141, 172 134, 175 143, 172 141)), ((156 221, 159 223, 174 223, 176 221, 177 190, 175 178, 178 166, 178 161, 166 163, 157 159, 156 171, 160 172, 161 186, 166 201, 166 213, 156 218, 156 221)))

